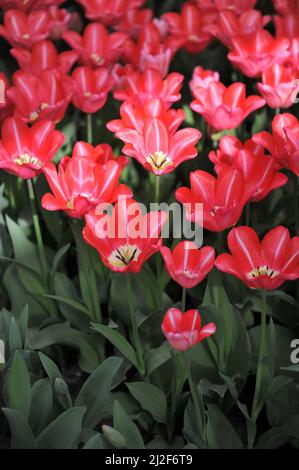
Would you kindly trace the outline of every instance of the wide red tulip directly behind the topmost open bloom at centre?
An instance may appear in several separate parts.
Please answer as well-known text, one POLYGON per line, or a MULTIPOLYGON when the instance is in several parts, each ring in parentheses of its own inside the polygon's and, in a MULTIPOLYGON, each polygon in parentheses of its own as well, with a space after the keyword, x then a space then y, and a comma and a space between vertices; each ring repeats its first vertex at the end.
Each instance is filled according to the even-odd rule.
POLYGON ((147 101, 159 98, 166 108, 181 99, 180 89, 184 76, 171 73, 163 80, 154 69, 146 69, 144 73, 128 72, 113 96, 117 100, 127 101, 142 106, 147 101))

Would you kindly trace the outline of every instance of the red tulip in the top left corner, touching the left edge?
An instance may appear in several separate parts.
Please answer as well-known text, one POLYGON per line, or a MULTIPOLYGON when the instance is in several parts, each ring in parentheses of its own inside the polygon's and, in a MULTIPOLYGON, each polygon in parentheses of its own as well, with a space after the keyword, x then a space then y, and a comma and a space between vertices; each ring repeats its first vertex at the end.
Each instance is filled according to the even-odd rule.
POLYGON ((12 46, 26 49, 46 39, 49 31, 50 18, 46 11, 34 11, 26 15, 23 11, 9 10, 4 13, 4 25, 0 25, 0 36, 12 46))

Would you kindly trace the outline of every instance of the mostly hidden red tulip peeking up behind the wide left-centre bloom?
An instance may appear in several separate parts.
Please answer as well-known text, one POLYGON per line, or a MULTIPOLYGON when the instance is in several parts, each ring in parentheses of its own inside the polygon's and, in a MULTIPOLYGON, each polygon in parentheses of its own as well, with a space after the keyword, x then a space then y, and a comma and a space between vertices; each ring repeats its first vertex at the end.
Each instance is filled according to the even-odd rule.
POLYGON ((95 164, 100 163, 101 165, 106 165, 111 160, 117 161, 122 168, 128 164, 128 158, 123 155, 115 157, 112 148, 108 144, 99 144, 93 147, 87 142, 78 141, 73 148, 72 156, 75 158, 86 157, 95 164))

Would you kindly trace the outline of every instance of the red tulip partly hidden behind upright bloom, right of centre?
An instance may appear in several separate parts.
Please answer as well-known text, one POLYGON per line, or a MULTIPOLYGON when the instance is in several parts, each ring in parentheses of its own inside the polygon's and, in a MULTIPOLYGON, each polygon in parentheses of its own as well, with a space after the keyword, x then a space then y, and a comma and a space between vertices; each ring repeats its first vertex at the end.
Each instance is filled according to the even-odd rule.
POLYGON ((264 155, 263 147, 251 139, 243 145, 236 137, 225 136, 219 143, 219 150, 210 152, 209 158, 217 174, 227 168, 236 168, 242 173, 248 202, 261 201, 288 182, 287 176, 278 172, 280 166, 276 160, 264 155))

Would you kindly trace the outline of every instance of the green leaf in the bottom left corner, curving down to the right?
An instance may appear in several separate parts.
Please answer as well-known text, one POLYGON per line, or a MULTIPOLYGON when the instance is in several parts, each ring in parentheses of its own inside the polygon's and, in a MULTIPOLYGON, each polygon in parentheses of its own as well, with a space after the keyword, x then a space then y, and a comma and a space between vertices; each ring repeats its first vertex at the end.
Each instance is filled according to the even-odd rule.
POLYGON ((2 408, 11 431, 12 449, 35 449, 35 437, 24 416, 16 410, 2 408))

